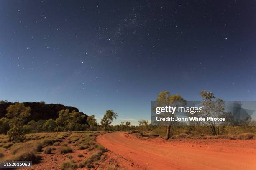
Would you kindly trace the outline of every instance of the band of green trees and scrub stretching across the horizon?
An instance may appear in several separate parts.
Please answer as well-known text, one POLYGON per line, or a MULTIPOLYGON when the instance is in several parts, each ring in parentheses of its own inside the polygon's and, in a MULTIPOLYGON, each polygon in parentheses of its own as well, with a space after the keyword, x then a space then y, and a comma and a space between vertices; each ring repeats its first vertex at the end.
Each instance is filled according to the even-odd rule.
MULTIPOLYGON (((219 98, 215 98, 212 92, 206 92, 202 90, 200 92, 202 97, 202 104, 204 105, 204 112, 200 114, 194 114, 193 116, 212 116, 212 117, 226 117, 230 122, 232 122, 232 117, 224 112, 224 101, 219 98)), ((171 95, 170 92, 164 91, 158 94, 156 99, 162 105, 174 105, 177 103, 179 105, 186 105, 186 100, 184 100, 180 95, 171 95)), ((0 104, 8 102, 0 101, 0 104)), ((45 102, 40 102, 45 104, 45 102)), ((6 117, 0 119, 0 133, 7 134, 9 140, 22 140, 24 134, 26 133, 40 133, 40 132, 60 132, 60 131, 93 131, 93 130, 108 130, 108 131, 120 131, 120 130, 154 130, 158 134, 166 134, 166 139, 177 133, 187 133, 187 134, 202 134, 206 133, 208 135, 220 135, 225 133, 230 133, 230 128, 225 125, 217 125, 214 121, 207 122, 189 122, 189 125, 176 125, 171 122, 164 126, 161 124, 152 125, 149 124, 147 120, 138 120, 138 126, 131 125, 131 122, 121 122, 120 125, 112 125, 113 120, 116 120, 117 113, 113 110, 106 110, 105 115, 97 123, 94 115, 88 116, 86 123, 84 123, 85 116, 81 112, 76 110, 70 111, 69 109, 60 110, 56 120, 31 120, 28 123, 27 119, 30 116, 31 108, 25 107, 23 103, 16 102, 10 105, 7 109, 6 117), (195 124, 196 123, 196 124, 195 124), (198 126, 201 125, 201 126, 198 126)), ((166 113, 169 114, 169 113, 166 113)), ((169 115, 174 116, 174 115, 169 115)), ((249 131, 248 126, 246 129, 249 131)), ((255 126, 254 126, 255 127, 255 126)), ((240 128, 243 129, 243 128, 240 128)), ((255 130, 254 130, 255 131, 255 130)), ((254 132, 255 133, 255 132, 254 132)))

